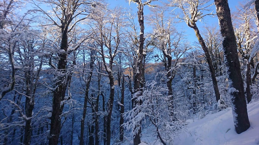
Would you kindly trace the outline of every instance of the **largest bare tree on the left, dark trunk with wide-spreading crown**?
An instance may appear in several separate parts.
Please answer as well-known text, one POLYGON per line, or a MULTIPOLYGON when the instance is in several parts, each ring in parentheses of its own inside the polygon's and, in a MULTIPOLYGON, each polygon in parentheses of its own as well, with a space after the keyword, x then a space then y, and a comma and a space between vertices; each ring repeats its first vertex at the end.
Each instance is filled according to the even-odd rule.
MULTIPOLYGON (((67 55, 72 51, 76 50, 80 44, 88 38, 85 38, 77 43, 77 45, 70 45, 69 33, 73 31, 73 28, 78 22, 89 18, 91 6, 96 6, 96 2, 90 0, 61 0, 61 1, 33 1, 35 7, 44 14, 47 19, 46 25, 51 25, 57 30, 57 34, 60 37, 60 47, 57 48, 57 55, 59 60, 57 67, 52 63, 52 56, 50 57, 49 64, 53 70, 56 71, 57 81, 53 88, 53 111, 51 116, 51 128, 49 136, 49 144, 57 144, 60 129, 61 129, 61 114, 63 111, 64 103, 61 101, 65 100, 65 93, 68 86, 69 78, 71 78, 70 71, 67 70, 67 55), (41 4, 49 4, 51 11, 44 10, 41 4), (53 12, 53 13, 52 13, 53 12)), ((59 46, 59 45, 58 45, 59 46)))

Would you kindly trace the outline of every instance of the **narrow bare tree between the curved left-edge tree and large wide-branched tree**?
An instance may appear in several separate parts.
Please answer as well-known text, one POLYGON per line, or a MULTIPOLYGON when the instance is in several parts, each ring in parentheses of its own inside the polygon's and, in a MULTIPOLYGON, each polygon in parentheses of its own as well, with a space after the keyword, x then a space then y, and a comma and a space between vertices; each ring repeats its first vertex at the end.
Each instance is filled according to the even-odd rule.
MULTIPOLYGON (((25 72, 25 94, 24 96, 26 97, 25 99, 25 115, 26 118, 24 118, 25 120, 25 127, 24 127, 24 141, 23 144, 25 145, 29 145, 31 142, 31 119, 32 119, 32 111, 34 108, 34 104, 35 104, 35 96, 36 96, 36 89, 37 89, 37 85, 38 85, 38 80, 39 80, 39 76, 40 76, 40 71, 41 71, 41 67, 42 67, 42 57, 41 60, 35 60, 35 55, 37 53, 35 53, 36 51, 38 52, 38 54, 40 54, 40 49, 39 50, 35 50, 36 48, 34 48, 37 44, 37 40, 36 39, 31 39, 31 40, 27 40, 26 42, 24 42, 23 47, 20 48, 20 50, 18 50, 18 54, 20 56, 20 61, 22 62, 25 72), (22 53, 23 52, 26 53, 22 53), (23 60, 24 59, 24 60, 23 60), (36 64, 36 63, 39 64, 36 64), (38 67, 38 69, 37 69, 38 67), (37 71, 34 71, 35 69, 37 69, 37 71)), ((44 42, 43 42, 44 44, 44 42)), ((44 47, 41 46, 41 47, 44 47)))

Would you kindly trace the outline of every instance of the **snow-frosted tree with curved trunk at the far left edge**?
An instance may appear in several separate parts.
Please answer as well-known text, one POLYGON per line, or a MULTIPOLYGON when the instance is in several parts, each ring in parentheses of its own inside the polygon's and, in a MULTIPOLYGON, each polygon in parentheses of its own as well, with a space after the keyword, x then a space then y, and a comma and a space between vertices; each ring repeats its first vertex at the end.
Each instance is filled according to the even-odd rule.
POLYGON ((22 35, 25 33, 30 33, 28 29, 25 29, 28 28, 28 24, 30 22, 28 24, 24 23, 27 21, 26 18, 27 15, 30 14, 30 11, 23 15, 19 15, 15 12, 21 8, 22 5, 22 2, 14 0, 3 0, 0 2, 0 54, 6 58, 9 58, 9 64, 11 65, 11 77, 8 80, 1 81, 0 100, 6 93, 13 90, 15 86, 16 69, 13 55, 15 53, 15 49, 17 48, 16 46, 18 45, 18 42, 22 39, 22 35))

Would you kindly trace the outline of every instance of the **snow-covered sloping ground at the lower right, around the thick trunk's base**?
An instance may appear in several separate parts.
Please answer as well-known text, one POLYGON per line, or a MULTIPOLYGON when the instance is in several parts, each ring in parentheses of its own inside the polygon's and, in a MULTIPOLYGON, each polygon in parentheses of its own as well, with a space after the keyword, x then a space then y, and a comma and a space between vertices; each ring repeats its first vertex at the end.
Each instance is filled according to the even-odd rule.
MULTIPOLYGON (((231 107, 202 119, 187 120, 188 130, 176 137, 174 145, 257 145, 259 144, 259 101, 247 105, 251 127, 241 133, 235 132, 231 107)), ((143 130, 141 145, 161 144, 143 130), (145 142, 145 143, 144 143, 145 142)))

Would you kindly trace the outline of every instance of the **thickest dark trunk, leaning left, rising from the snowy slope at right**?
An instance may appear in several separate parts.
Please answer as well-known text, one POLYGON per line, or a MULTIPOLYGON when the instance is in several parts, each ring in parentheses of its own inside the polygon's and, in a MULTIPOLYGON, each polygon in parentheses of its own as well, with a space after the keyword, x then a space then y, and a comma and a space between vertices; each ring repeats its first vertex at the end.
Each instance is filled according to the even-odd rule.
POLYGON ((241 76, 235 33, 231 21, 231 14, 227 0, 215 0, 216 11, 219 19, 220 31, 224 38, 223 49, 229 73, 229 90, 232 96, 232 112, 235 129, 238 134, 250 127, 244 86, 241 76))

